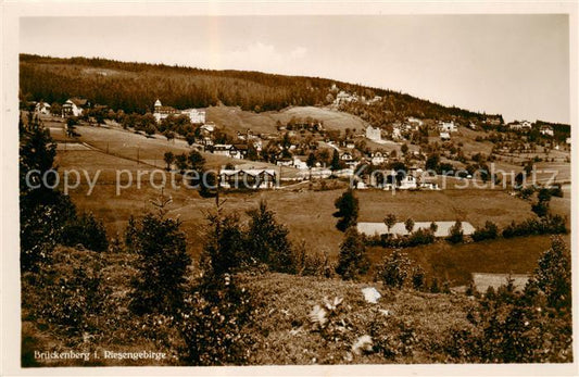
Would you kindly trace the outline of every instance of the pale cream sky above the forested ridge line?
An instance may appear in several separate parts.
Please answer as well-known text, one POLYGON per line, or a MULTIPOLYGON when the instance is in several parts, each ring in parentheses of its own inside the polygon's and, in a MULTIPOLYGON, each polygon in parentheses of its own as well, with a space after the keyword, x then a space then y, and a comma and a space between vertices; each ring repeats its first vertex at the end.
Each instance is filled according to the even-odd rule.
POLYGON ((569 123, 566 15, 23 17, 20 51, 319 76, 569 123))

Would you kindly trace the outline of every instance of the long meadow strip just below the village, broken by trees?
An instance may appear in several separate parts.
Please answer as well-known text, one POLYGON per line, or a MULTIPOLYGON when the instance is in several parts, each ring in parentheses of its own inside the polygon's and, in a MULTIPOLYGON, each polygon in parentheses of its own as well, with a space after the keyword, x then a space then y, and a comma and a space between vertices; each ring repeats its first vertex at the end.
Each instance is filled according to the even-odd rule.
MULTIPOLYGON (((75 203, 87 211, 102 217, 110 231, 122 233, 126 221, 134 214, 142 215, 152 211, 149 201, 160 194, 161 175, 155 175, 151 184, 149 172, 151 166, 138 164, 136 161, 108 155, 98 151, 66 151, 58 153, 61 171, 77 168, 86 169, 93 179, 95 173, 101 171, 98 185, 91 196, 87 197, 86 179, 71 191, 75 203), (116 169, 127 169, 119 175, 122 184, 128 186, 128 177, 133 178, 129 188, 121 188, 116 194, 116 169), (137 186, 137 174, 142 172, 141 186, 137 186), (128 173, 130 172, 130 173, 128 173)), ((197 253, 198 239, 204 224, 204 214, 214 208, 213 199, 199 197, 196 190, 182 187, 179 175, 175 175, 176 188, 171 185, 171 174, 166 173, 165 193, 173 197, 171 213, 179 215, 184 229, 189 234, 192 251, 197 253)), ((307 185, 295 188, 254 191, 224 192, 227 211, 244 213, 264 199, 277 213, 279 221, 288 226, 293 240, 305 240, 309 246, 327 248, 336 255, 342 235, 335 228, 336 218, 332 213, 335 200, 342 190, 310 191, 307 185)), ((482 226, 486 221, 505 226, 512 219, 531 216, 530 204, 515 199, 501 190, 445 190, 445 191, 381 191, 361 190, 361 222, 381 222, 388 213, 393 213, 400 221, 412 217, 414 221, 454 221, 461 218, 474 226, 482 226)))

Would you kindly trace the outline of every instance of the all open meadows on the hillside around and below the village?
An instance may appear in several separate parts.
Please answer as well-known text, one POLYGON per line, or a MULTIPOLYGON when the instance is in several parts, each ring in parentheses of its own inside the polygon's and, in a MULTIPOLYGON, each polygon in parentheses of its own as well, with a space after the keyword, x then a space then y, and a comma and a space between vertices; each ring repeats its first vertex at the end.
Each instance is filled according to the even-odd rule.
MULTIPOLYGON (((290 111, 291 109, 288 110, 290 111)), ((154 211, 151 200, 160 196, 163 185, 162 175, 156 173, 154 179, 151 179, 151 172, 155 166, 164 167, 162 154, 167 150, 174 153, 190 150, 182 140, 168 142, 159 136, 146 138, 118 128, 81 126, 78 127, 81 136, 77 140, 72 140, 65 138, 64 133, 58 131, 62 124, 53 122, 48 126, 52 129, 52 136, 61 142, 56 156, 61 172, 75 168, 81 173, 79 186, 70 190, 73 201, 80 211, 90 211, 102 218, 111 237, 123 235, 129 216, 140 217, 147 212, 154 211), (64 141, 67 142, 67 147, 63 147, 64 141), (71 142, 83 142, 87 148, 74 148, 71 142), (97 172, 100 172, 98 184, 89 196, 83 169, 91 179, 95 179, 97 172), (115 186, 117 171, 124 171, 118 177, 122 184, 126 185, 126 188, 119 188, 118 194, 115 186), (139 174, 140 186, 137 184, 139 174), (133 185, 129 185, 129 177, 133 179, 133 185)), ((207 165, 212 167, 227 162, 239 162, 211 153, 204 153, 204 156, 207 165)), ((270 166, 264 163, 251 162, 251 164, 256 167, 270 166)), ((554 164, 556 166, 553 167, 561 169, 562 177, 569 176, 569 164, 554 164)), ((541 168, 550 166, 547 163, 540 165, 541 168)), ((197 190, 184 187, 178 174, 172 176, 165 173, 165 178, 167 180, 164 193, 173 199, 169 215, 181 221, 181 227, 187 234, 188 251, 197 257, 202 249, 205 217, 215 209, 215 200, 201 198, 197 190), (172 179, 175 186, 172 185, 172 179)), ((74 176, 70 179, 71 183, 76 180, 74 176)), ((437 180, 442 184, 440 177, 437 180)), ((319 183, 314 184, 314 190, 309 189, 309 183, 303 183, 278 190, 222 192, 221 200, 224 201, 226 211, 239 214, 242 221, 247 218, 248 210, 255 208, 261 200, 265 200, 275 211, 278 221, 288 227, 293 242, 304 242, 307 249, 325 251, 331 259, 337 260, 343 235, 335 227, 337 219, 332 216, 336 212, 333 202, 343 192, 345 183, 340 180, 326 183, 324 190, 319 189, 319 183)), ((470 184, 467 189, 458 189, 457 186, 463 186, 465 180, 450 177, 446 179, 446 189, 442 191, 358 190, 356 192, 360 199, 358 221, 382 222, 387 214, 393 213, 399 221, 462 219, 475 227, 481 227, 487 221, 491 221, 502 228, 512 221, 518 222, 533 216, 529 201, 512 197, 501 185, 495 189, 475 189, 470 184)), ((568 226, 570 226, 569 194, 567 190, 565 198, 553 198, 551 201, 552 212, 567 216, 568 226)), ((411 248, 407 251, 432 276, 450 280, 453 285, 464 285, 473 272, 527 273, 547 243, 549 237, 536 236, 461 246, 450 246, 442 241, 411 248), (480 263, 481 261, 484 263, 480 263)), ((386 252, 388 250, 372 248, 369 255, 373 262, 379 262, 386 252)), ((372 274, 368 278, 372 278, 372 274)))

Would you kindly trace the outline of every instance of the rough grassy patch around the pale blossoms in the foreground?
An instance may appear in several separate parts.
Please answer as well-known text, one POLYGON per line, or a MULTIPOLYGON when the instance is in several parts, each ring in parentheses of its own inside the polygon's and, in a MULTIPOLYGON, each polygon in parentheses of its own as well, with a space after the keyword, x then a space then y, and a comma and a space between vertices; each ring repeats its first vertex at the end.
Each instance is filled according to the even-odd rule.
POLYGON ((262 306, 259 310, 255 332, 261 335, 254 347, 251 362, 256 364, 313 364, 345 363, 356 337, 369 334, 373 322, 381 323, 383 336, 394 336, 393 326, 402 319, 418 337, 413 356, 398 355, 385 360, 378 354, 354 356, 353 363, 435 363, 441 362, 440 354, 428 347, 431 341, 444 339, 451 327, 466 327, 467 309, 471 305, 464 296, 432 294, 415 291, 390 291, 379 284, 357 284, 338 279, 295 277, 270 274, 247 278, 248 287, 262 306), (361 289, 374 286, 382 298, 377 304, 364 301, 361 289), (323 304, 324 297, 332 300, 343 298, 344 318, 350 329, 344 332, 345 344, 325 341, 317 332, 311 331, 307 313, 316 304, 323 304), (378 310, 389 311, 385 316, 378 310), (388 327, 392 326, 392 327, 388 327), (264 347, 265 345, 265 347, 264 347))

